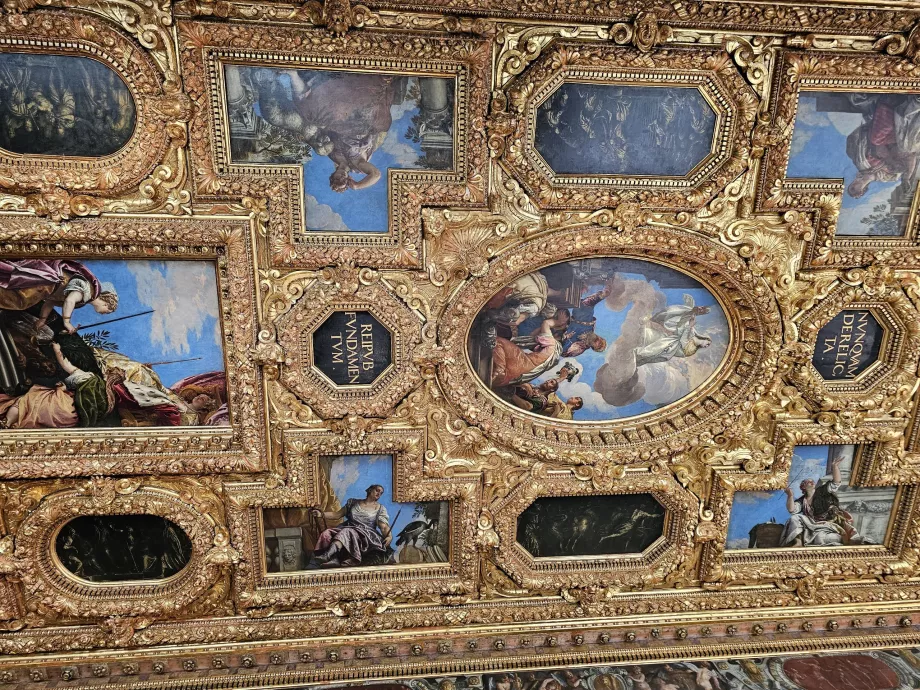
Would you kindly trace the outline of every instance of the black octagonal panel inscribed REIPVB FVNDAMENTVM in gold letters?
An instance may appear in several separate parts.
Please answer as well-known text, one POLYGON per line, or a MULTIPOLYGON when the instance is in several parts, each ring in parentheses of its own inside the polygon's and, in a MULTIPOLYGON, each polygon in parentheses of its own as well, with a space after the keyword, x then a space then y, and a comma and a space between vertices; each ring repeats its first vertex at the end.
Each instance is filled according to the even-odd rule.
POLYGON ((313 363, 337 386, 373 383, 392 348, 390 331, 366 311, 337 311, 313 333, 313 363))

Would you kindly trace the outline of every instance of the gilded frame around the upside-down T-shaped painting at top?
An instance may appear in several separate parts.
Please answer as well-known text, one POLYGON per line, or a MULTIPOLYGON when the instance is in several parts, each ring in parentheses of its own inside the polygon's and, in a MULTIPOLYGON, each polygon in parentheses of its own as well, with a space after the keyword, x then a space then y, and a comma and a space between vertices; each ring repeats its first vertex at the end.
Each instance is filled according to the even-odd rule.
POLYGON ((489 93, 489 44, 456 35, 350 32, 342 38, 321 29, 178 22, 181 62, 192 99, 201 103, 191 124, 194 184, 200 199, 241 196, 271 199, 268 226, 273 265, 318 268, 355 261, 375 268, 422 264, 422 198, 425 205, 481 207, 486 200, 485 132, 489 93), (291 46, 298 46, 291 51, 291 46), (323 233, 303 228, 302 174, 292 166, 231 164, 221 128, 223 85, 219 63, 375 70, 454 76, 455 169, 391 173, 390 231, 323 233))

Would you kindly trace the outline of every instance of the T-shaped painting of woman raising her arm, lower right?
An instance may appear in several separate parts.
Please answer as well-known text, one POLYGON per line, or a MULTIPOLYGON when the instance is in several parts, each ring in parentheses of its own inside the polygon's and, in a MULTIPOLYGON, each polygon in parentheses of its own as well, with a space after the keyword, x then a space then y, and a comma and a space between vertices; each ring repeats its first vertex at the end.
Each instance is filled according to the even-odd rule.
POLYGON ((897 489, 850 486, 858 446, 796 446, 782 491, 737 491, 728 549, 884 544, 897 489))

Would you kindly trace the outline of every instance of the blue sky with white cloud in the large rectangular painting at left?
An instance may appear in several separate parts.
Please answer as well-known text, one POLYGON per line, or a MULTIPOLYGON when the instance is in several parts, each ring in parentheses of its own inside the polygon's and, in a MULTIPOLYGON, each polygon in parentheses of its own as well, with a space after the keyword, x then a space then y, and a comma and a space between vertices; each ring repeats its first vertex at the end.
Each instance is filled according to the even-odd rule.
POLYGON ((209 261, 83 261, 103 284, 118 293, 114 314, 90 307, 74 311, 73 323, 92 324, 147 309, 146 314, 86 332, 108 330, 118 351, 138 362, 201 357, 194 362, 153 367, 171 386, 186 376, 224 371, 217 307, 217 276, 209 261))

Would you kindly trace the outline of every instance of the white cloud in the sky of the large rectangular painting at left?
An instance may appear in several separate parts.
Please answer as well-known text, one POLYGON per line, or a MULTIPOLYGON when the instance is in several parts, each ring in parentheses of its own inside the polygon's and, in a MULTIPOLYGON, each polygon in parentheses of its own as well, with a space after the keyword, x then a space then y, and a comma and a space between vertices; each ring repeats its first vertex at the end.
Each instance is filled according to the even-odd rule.
MULTIPOLYGON (((131 261, 127 265, 137 280, 138 301, 155 310, 150 341, 164 353, 189 354, 190 337, 200 338, 207 320, 216 319, 219 313, 214 268, 198 261, 131 261)), ((219 324, 213 334, 214 345, 220 347, 219 324)))

